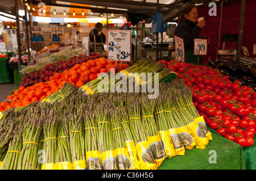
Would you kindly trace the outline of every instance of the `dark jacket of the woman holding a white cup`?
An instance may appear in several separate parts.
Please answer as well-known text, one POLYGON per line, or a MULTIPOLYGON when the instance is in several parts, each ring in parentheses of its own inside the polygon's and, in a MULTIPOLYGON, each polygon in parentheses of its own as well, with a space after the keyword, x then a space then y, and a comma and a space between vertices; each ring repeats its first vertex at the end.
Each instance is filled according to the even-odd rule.
POLYGON ((197 57, 200 57, 199 64, 201 64, 201 56, 194 56, 194 39, 200 39, 201 28, 196 26, 197 23, 191 22, 191 20, 183 19, 175 29, 174 35, 183 39, 185 49, 185 62, 196 64, 197 57))

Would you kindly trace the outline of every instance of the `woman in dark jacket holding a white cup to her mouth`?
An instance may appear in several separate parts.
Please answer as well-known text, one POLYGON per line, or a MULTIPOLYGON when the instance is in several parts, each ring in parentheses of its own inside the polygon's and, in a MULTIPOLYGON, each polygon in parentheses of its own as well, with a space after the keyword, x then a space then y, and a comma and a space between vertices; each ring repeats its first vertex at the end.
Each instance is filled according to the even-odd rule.
POLYGON ((197 58, 199 57, 199 65, 201 65, 202 57, 194 55, 194 39, 201 39, 200 31, 206 25, 206 22, 205 20, 200 20, 200 22, 197 23, 197 18, 197 7, 195 5, 186 6, 179 16, 174 35, 183 39, 185 62, 197 65, 197 58))

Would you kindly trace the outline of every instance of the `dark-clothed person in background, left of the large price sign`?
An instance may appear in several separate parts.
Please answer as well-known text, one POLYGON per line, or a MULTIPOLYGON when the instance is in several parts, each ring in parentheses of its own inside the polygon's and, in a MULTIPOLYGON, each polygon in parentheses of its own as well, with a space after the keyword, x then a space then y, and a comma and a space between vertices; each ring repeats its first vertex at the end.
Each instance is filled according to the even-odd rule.
POLYGON ((96 43, 106 43, 106 36, 104 35, 104 33, 101 32, 103 27, 103 24, 98 22, 95 24, 93 30, 90 31, 89 33, 89 40, 92 41, 92 43, 94 43, 94 36, 96 35, 96 43))

